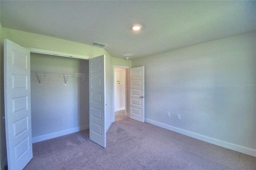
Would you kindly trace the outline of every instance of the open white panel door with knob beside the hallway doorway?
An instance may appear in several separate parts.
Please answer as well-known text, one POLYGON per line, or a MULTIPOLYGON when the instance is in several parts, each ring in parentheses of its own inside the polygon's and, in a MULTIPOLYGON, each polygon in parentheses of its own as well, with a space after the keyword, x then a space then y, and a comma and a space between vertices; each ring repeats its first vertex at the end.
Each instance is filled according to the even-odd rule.
POLYGON ((144 66, 130 68, 130 118, 144 122, 144 66))

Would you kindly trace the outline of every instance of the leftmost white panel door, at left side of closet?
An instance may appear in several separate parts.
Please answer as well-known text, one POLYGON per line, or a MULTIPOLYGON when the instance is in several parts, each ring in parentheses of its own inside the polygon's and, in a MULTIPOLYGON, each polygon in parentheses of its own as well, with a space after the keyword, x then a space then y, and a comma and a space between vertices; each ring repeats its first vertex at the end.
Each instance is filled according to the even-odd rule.
POLYGON ((4 111, 8 169, 32 159, 30 51, 4 39, 4 111))

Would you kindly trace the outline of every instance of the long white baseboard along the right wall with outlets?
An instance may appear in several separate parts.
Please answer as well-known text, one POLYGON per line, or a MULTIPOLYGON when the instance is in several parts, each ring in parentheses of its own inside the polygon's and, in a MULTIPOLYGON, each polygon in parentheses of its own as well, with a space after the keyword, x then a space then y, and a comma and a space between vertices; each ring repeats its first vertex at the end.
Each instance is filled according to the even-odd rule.
POLYGON ((240 146, 240 145, 237 145, 237 144, 225 142, 225 141, 218 140, 218 139, 215 139, 215 138, 210 138, 208 136, 204 136, 204 135, 201 135, 201 134, 190 132, 188 130, 184 130, 184 129, 181 129, 181 128, 166 125, 164 123, 160 123, 160 122, 157 122, 157 121, 152 121, 150 119, 145 119, 145 122, 156 125, 158 127, 166 128, 168 130, 172 130, 174 132, 178 132, 180 134, 184 134, 186 136, 190 136, 192 138, 196 138, 196 139, 199 139, 199 140, 211 143, 211 144, 222 146, 224 148, 228 148, 228 149, 231 149, 231 150, 235 150, 237 152, 242 152, 244 154, 248 154, 248 155, 256 157, 256 150, 252 149, 252 148, 247 148, 247 147, 244 147, 244 146, 240 146))

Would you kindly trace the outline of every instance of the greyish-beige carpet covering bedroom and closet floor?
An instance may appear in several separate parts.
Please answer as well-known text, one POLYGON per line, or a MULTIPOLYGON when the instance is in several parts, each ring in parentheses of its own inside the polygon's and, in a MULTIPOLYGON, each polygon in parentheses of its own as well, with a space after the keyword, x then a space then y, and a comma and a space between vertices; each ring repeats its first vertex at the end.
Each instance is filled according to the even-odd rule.
POLYGON ((33 144, 24 170, 256 170, 256 158, 149 123, 112 123, 106 148, 88 130, 33 144))

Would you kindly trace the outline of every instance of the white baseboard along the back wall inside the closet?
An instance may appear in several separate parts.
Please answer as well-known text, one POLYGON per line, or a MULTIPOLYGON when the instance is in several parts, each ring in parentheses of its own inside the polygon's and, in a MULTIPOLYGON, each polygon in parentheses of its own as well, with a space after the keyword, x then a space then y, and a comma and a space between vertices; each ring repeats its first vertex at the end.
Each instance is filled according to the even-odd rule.
POLYGON ((70 134, 70 133, 74 133, 74 132, 79 132, 80 130, 85 130, 85 129, 88 129, 88 128, 89 128, 89 125, 84 125, 84 126, 81 126, 81 127, 70 128, 70 129, 67 129, 67 130, 60 131, 60 132, 54 132, 54 133, 44 134, 42 136, 32 137, 32 143, 40 142, 40 141, 43 141, 43 140, 48 140, 48 139, 51 139, 51 138, 56 138, 56 137, 63 136, 63 135, 66 135, 66 134, 70 134))

